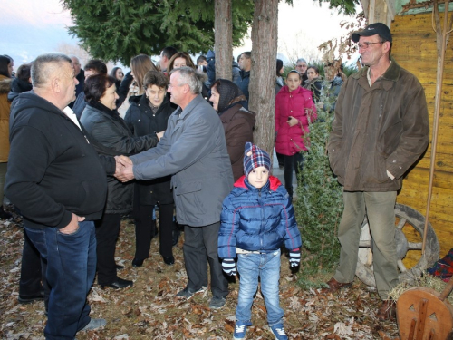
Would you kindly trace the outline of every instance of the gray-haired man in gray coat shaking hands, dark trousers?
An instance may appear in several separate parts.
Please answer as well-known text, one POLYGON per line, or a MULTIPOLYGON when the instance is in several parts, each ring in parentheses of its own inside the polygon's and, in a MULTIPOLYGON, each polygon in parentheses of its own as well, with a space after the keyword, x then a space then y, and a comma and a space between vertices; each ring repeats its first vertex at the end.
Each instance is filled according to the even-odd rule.
POLYGON ((117 178, 151 180, 172 175, 178 223, 184 225, 188 285, 177 296, 190 298, 207 287, 210 308, 225 305, 228 285, 217 257, 222 202, 233 188, 225 132, 217 112, 200 95, 201 82, 189 67, 170 73, 170 101, 179 107, 159 144, 149 151, 117 158, 117 178))

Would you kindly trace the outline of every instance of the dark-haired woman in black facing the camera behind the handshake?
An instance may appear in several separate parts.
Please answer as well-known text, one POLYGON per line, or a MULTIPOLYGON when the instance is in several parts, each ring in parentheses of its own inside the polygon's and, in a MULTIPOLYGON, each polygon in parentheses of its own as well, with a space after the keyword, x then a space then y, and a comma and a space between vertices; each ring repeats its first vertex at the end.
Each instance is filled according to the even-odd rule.
MULTIPOLYGON (((130 97, 130 107, 124 120, 137 137, 167 130, 167 121, 176 110, 167 96, 167 77, 159 71, 149 71, 143 79, 145 93, 130 97)), ((134 193, 135 257, 132 266, 140 267, 149 257, 150 239, 156 232, 154 207, 159 205, 159 253, 164 263, 173 265, 173 194, 170 176, 155 180, 137 180, 134 193)))

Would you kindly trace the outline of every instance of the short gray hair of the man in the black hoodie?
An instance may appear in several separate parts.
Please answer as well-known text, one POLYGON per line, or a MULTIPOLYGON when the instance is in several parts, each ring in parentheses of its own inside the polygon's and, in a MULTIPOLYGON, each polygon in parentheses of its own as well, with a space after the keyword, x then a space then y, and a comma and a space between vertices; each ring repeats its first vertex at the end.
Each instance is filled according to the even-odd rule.
POLYGON ((72 60, 63 53, 47 53, 38 56, 32 64, 33 87, 43 87, 49 82, 54 73, 61 73, 64 63, 72 66, 72 60))

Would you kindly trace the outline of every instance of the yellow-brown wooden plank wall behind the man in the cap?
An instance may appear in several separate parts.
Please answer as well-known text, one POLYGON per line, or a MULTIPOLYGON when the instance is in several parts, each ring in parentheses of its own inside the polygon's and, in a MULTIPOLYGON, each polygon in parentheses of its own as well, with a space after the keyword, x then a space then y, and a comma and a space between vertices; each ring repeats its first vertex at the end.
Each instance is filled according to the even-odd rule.
MULTIPOLYGON (((443 15, 443 14, 441 14, 443 15)), ((442 20, 441 20, 442 22, 442 20)), ((391 54, 402 67, 414 73, 423 85, 427 97, 432 141, 432 120, 436 92, 438 53, 436 33, 431 24, 431 14, 397 15, 391 24, 393 46, 391 54)), ((444 70, 443 96, 432 191, 431 222, 439 238, 440 257, 453 248, 453 39, 450 38, 444 70)), ((397 201, 426 213, 429 184, 431 143, 417 166, 403 180, 397 201)), ((417 261, 416 254, 405 264, 417 261)))

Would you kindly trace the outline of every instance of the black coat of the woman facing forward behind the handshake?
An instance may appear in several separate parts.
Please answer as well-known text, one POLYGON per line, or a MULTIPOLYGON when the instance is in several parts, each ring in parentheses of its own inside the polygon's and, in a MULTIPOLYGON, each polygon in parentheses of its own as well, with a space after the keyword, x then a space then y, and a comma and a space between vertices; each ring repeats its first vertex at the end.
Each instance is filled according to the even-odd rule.
MULTIPOLYGON (((167 130, 169 116, 177 108, 176 105, 169 102, 167 96, 156 114, 149 107, 145 94, 130 97, 129 102, 130 107, 124 116, 124 121, 128 123, 136 137, 167 130)), ((170 180, 171 176, 154 180, 137 180, 135 189, 140 191, 140 205, 155 205, 158 202, 161 204, 173 203, 170 180)))

